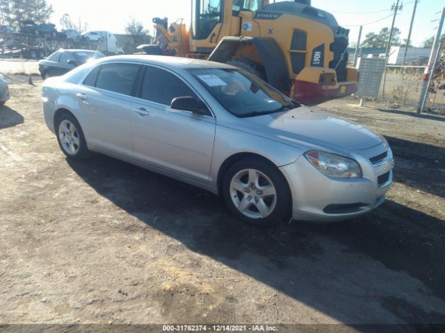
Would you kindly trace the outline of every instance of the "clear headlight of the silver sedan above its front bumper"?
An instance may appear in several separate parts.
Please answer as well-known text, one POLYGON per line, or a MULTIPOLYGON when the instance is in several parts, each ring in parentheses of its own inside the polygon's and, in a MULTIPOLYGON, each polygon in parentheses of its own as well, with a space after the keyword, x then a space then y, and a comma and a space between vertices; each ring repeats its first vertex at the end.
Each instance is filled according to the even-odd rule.
POLYGON ((321 173, 336 178, 360 178, 362 170, 355 160, 348 157, 326 153, 325 151, 308 151, 305 157, 321 173))

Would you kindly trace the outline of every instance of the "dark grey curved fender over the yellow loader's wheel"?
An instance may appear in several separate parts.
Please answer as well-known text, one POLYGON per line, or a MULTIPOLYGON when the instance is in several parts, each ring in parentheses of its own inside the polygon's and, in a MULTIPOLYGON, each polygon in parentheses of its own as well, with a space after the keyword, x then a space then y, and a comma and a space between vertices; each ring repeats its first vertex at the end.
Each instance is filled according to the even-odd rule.
POLYGON ((232 59, 243 45, 252 45, 263 61, 268 83, 280 90, 290 92, 291 81, 282 49, 273 38, 265 37, 224 37, 207 60, 226 62, 232 59))

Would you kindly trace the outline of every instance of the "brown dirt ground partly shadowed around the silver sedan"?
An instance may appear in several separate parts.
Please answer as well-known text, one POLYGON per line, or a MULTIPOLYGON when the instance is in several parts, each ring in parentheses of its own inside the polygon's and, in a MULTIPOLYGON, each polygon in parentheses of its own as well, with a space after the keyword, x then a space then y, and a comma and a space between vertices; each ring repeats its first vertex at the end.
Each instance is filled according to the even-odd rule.
POLYGON ((8 80, 0 324, 445 324, 445 117, 319 105, 387 137, 388 200, 359 219, 259 230, 176 180, 102 155, 67 160, 42 81, 8 80))

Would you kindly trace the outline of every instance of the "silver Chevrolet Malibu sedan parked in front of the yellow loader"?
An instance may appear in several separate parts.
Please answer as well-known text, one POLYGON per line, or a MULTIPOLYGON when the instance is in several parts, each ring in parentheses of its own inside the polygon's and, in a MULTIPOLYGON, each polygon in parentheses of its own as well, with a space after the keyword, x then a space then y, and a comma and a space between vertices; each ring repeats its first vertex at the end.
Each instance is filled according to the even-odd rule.
POLYGON ((42 104, 68 158, 103 153, 221 194, 252 225, 350 219, 392 182, 381 135, 216 62, 102 58, 46 80, 42 104))

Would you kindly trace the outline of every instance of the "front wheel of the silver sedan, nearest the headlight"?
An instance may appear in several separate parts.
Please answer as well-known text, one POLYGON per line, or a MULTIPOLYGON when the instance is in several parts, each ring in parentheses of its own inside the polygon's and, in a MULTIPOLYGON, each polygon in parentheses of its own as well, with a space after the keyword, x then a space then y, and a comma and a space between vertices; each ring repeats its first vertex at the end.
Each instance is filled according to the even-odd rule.
POLYGON ((291 194, 286 179, 270 162, 260 159, 234 163, 223 179, 229 210, 246 223, 275 226, 291 218, 291 194))

